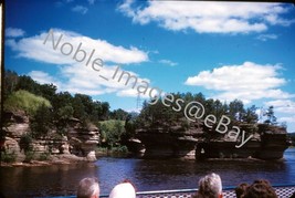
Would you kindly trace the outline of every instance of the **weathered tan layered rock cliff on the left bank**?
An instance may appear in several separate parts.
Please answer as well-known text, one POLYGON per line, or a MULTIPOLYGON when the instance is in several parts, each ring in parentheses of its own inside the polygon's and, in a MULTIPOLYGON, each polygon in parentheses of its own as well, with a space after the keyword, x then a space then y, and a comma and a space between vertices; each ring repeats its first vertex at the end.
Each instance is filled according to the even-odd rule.
MULTIPOLYGON (((19 111, 6 113, 6 118, 8 125, 2 128, 6 134, 3 148, 10 154, 13 153, 17 156, 17 161, 22 161, 25 155, 20 139, 31 132, 29 117, 24 112, 19 111)), ((72 118, 69 121, 66 131, 67 135, 59 136, 59 138, 54 138, 56 132, 52 129, 48 136, 33 139, 31 143, 32 152, 36 156, 41 154, 63 155, 64 157, 77 155, 81 160, 96 160, 95 148, 99 143, 98 128, 92 124, 83 126, 78 119, 72 118)))

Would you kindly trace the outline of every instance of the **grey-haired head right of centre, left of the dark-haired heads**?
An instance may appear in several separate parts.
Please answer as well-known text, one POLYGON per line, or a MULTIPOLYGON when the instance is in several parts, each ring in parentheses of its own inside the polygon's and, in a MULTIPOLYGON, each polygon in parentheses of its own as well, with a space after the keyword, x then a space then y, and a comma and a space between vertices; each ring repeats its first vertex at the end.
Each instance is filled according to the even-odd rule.
POLYGON ((221 178, 217 174, 209 174, 199 180, 199 197, 204 198, 221 198, 222 184, 221 178))

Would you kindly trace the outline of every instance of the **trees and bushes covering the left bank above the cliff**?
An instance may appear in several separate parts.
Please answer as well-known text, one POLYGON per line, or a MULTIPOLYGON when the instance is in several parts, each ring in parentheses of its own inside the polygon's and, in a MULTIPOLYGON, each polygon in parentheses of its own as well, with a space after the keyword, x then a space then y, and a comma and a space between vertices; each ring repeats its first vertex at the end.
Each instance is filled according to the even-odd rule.
POLYGON ((122 108, 110 111, 108 102, 80 93, 57 92, 53 84, 40 84, 28 75, 18 75, 9 70, 4 73, 3 90, 4 111, 23 110, 30 117, 32 138, 46 136, 52 128, 60 135, 66 135, 71 118, 78 118, 85 126, 93 123, 102 128, 106 145, 114 145, 118 140, 114 136, 124 133, 128 113, 122 108), (114 132, 113 125, 118 133, 114 132))

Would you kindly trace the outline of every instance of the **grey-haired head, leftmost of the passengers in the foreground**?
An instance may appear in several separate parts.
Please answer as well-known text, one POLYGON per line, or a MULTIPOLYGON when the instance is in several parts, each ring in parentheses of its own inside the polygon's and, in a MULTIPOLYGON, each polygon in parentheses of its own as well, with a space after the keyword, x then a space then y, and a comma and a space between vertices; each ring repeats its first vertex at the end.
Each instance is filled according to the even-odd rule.
POLYGON ((77 198, 98 198, 99 185, 96 178, 84 178, 78 183, 77 198))

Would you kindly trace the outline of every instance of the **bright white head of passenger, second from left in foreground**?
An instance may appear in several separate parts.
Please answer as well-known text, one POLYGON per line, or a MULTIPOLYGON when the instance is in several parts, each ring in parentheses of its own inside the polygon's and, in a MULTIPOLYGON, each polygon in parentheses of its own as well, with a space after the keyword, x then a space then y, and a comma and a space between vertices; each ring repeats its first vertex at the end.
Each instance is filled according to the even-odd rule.
POLYGON ((135 198, 136 190, 134 185, 129 180, 124 180, 123 183, 116 185, 108 198, 135 198))

